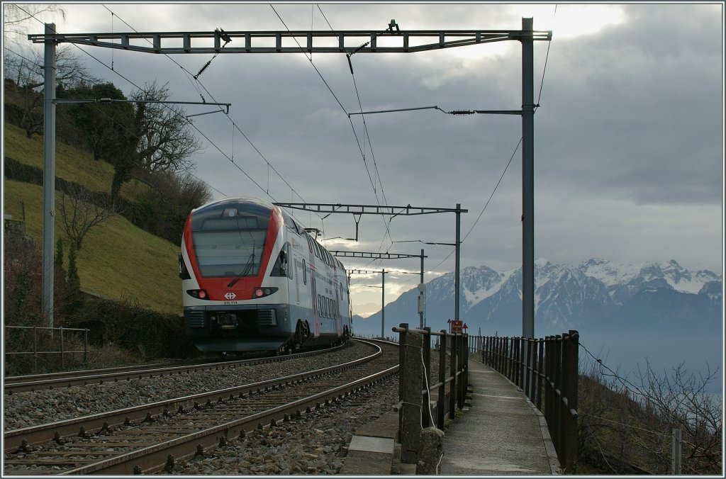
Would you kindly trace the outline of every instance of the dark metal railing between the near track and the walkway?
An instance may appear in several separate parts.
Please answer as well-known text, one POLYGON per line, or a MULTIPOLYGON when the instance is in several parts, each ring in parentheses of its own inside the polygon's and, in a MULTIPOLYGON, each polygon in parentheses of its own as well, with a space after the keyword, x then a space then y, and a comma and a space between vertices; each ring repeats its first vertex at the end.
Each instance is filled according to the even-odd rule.
MULTIPOLYGON (((420 431, 436 425, 444 430, 446 418, 464 408, 468 389, 467 335, 430 327, 393 327, 399 333, 399 442, 401 462, 417 463, 420 431), (431 371, 431 337, 437 338, 439 371, 431 371), (436 382, 434 382, 436 381, 436 382), (434 399, 435 398, 435 399, 434 399), (433 424, 435 423, 435 424, 433 424)), ((436 350, 435 350, 436 351, 436 350)))

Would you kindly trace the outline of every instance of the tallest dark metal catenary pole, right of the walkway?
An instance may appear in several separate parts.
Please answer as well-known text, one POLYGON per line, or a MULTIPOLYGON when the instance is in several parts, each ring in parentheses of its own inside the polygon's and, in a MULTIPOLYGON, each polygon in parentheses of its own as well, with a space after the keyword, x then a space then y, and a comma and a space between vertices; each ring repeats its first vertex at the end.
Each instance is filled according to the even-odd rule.
POLYGON ((522 336, 534 337, 534 42, 522 19, 522 336))

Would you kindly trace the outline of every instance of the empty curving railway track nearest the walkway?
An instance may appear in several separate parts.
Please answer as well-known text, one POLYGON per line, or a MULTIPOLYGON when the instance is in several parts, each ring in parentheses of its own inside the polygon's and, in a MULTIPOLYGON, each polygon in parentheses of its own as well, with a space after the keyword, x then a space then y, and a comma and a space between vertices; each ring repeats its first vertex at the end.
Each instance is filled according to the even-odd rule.
POLYGON ((129 475, 173 467, 395 374, 396 346, 366 343, 374 353, 335 367, 9 431, 4 473, 129 475))

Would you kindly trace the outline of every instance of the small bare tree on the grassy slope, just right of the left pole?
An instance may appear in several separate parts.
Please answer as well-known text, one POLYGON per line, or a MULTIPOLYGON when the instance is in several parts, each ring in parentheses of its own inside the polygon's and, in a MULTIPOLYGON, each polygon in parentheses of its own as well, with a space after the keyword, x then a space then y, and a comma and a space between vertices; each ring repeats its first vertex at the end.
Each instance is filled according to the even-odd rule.
POLYGON ((81 250, 83 239, 94 226, 113 216, 113 210, 94 204, 90 192, 80 187, 71 187, 70 194, 63 193, 60 205, 60 228, 65 232, 76 250, 81 250))

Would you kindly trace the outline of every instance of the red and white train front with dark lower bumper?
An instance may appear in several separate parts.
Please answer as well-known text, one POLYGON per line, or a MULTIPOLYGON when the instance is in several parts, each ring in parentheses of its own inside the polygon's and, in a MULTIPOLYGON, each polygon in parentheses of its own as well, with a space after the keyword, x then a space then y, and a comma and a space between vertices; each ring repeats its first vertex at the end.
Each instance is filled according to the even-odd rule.
POLYGON ((187 335, 200 351, 276 351, 290 338, 282 216, 248 198, 192 210, 179 255, 187 335))

